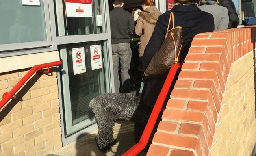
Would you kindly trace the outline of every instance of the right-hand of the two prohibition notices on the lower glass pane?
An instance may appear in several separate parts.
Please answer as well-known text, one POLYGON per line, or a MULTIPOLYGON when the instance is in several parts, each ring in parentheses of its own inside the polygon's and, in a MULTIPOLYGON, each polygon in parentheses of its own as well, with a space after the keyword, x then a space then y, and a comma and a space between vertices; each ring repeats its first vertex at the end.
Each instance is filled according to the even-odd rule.
POLYGON ((102 68, 102 54, 100 45, 92 45, 91 49, 91 70, 102 68))

